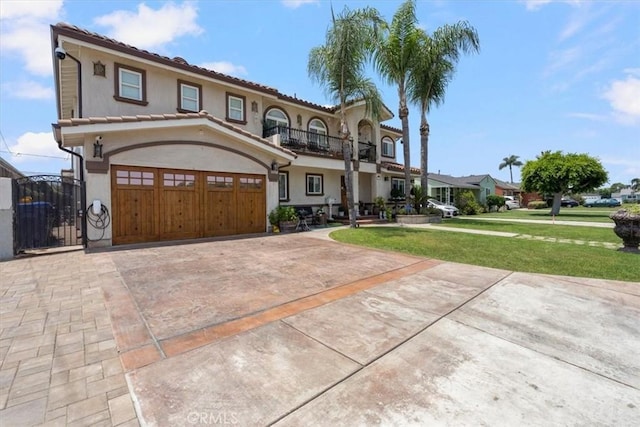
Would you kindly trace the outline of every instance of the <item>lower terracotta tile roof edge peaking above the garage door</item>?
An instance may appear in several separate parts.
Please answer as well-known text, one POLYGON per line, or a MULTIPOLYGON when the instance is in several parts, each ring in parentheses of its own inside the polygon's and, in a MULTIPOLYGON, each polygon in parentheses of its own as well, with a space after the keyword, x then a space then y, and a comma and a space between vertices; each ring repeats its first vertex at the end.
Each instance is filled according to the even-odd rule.
POLYGON ((173 114, 145 114, 136 116, 107 116, 107 117, 82 117, 72 119, 60 119, 58 120, 58 126, 72 127, 80 125, 92 125, 92 124, 109 124, 109 123, 135 123, 135 122, 149 122, 149 121, 166 121, 166 120, 189 120, 189 119, 207 119, 210 122, 229 129, 239 135, 250 138, 261 144, 267 145, 272 148, 276 148, 283 153, 289 154, 294 158, 298 157, 296 153, 286 148, 273 144, 271 141, 260 138, 259 136, 247 132, 246 130, 233 126, 230 123, 225 122, 217 117, 212 116, 207 111, 202 110, 199 113, 173 113, 173 114))

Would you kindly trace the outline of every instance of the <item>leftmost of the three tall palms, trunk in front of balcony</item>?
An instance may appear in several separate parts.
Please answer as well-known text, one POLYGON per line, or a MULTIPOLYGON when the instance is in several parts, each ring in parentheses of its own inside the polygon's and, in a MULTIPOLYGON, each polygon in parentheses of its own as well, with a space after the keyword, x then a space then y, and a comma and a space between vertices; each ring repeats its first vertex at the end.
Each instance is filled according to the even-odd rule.
POLYGON ((356 208, 353 196, 351 132, 345 108, 349 102, 364 100, 366 114, 378 120, 383 104, 373 81, 365 76, 365 67, 378 44, 385 25, 374 8, 350 10, 345 7, 336 17, 331 10, 332 26, 325 44, 309 52, 307 72, 324 87, 328 96, 340 105, 340 137, 344 156, 344 178, 349 209, 349 223, 355 228, 356 208))

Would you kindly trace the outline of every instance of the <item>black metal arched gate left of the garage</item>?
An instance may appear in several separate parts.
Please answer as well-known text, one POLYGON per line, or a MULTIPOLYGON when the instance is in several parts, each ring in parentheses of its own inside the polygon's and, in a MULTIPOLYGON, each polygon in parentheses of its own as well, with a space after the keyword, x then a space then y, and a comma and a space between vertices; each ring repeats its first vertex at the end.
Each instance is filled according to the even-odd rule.
POLYGON ((13 181, 14 254, 30 249, 85 245, 84 183, 37 175, 13 181))

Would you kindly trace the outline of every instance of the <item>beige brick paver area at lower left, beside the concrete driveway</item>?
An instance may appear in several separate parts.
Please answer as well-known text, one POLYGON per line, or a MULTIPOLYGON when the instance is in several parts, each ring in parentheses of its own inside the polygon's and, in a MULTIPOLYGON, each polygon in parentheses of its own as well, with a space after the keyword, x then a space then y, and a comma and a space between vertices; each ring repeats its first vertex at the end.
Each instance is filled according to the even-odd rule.
POLYGON ((109 274, 83 252, 0 263, 0 424, 138 425, 103 298, 109 274))

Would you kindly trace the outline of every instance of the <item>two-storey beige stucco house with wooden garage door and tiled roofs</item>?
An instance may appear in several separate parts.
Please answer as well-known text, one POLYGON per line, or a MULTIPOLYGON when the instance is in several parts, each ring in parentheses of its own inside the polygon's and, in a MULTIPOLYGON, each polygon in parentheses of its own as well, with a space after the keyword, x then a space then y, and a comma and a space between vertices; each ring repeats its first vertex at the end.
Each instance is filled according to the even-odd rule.
MULTIPOLYGON (((108 213, 87 230, 89 246, 263 233, 279 204, 331 203, 333 215, 346 205, 336 107, 64 23, 51 42, 54 136, 76 153, 87 205, 108 213)), ((347 120, 360 208, 404 191, 401 131, 363 102, 347 120)))

